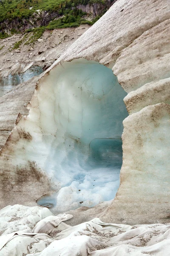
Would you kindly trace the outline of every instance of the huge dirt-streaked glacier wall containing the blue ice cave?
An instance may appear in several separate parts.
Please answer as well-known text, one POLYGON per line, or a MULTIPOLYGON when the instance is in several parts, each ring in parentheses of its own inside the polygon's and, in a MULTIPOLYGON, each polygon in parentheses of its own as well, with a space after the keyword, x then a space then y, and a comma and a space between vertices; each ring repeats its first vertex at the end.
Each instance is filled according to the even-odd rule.
MULTIPOLYGON (((42 76, 14 87, 0 99, 1 208, 8 204, 35 206, 36 202, 48 204, 53 207, 52 209, 57 209, 58 206, 59 211, 83 206, 71 210, 70 213, 74 216, 70 222, 72 225, 95 217, 104 222, 130 225, 168 222, 169 7, 168 1, 162 5, 161 0, 131 0, 129 3, 125 0, 116 1, 108 12, 71 44, 42 76), (116 128, 110 132, 110 122, 107 121, 105 134, 99 131, 99 134, 92 133, 91 138, 82 134, 81 125, 86 120, 88 131, 90 120, 89 116, 86 119, 83 116, 82 123, 79 121, 82 113, 85 114, 85 106, 82 108, 80 100, 81 96, 85 95, 85 89, 68 97, 74 88, 74 74, 79 73, 79 85, 83 83, 81 71, 70 72, 68 86, 65 86, 64 81, 71 65, 75 67, 74 64, 77 63, 80 67, 83 62, 92 64, 92 61, 97 61, 93 64, 111 68, 121 87, 128 93, 124 102, 129 116, 123 121, 123 133, 121 125, 120 129, 117 129, 119 133, 116 132, 116 128), (63 78, 61 86, 60 78, 63 78), (65 100, 65 104, 62 104, 61 99, 65 100), (74 104, 70 105, 70 102, 74 104), (77 128, 74 128, 76 122, 77 128), (86 198, 82 197, 84 193, 80 194, 83 188, 78 186, 86 183, 90 184, 89 188, 97 188, 96 181, 99 179, 96 180, 92 175, 100 175, 102 169, 103 174, 104 170, 109 171, 113 162, 110 162, 108 156, 113 153, 114 148, 110 143, 121 143, 121 135, 123 163, 116 197, 94 207, 85 207, 84 205, 90 206, 95 202, 90 196, 91 204, 86 202, 86 198), (62 148, 63 151, 60 150, 62 148), (105 148, 109 154, 103 153, 105 148), (79 175, 80 172, 82 176, 79 175), (92 174, 89 181, 87 175, 90 173, 92 174), (81 196, 78 198, 78 195, 81 196), (63 198, 62 205, 59 204, 59 198, 63 198), (68 200, 67 205, 65 198, 68 200)), ((86 91, 89 98, 91 95, 96 101, 100 99, 95 98, 96 94, 93 96, 88 88, 86 91)), ((105 92, 110 96, 109 93, 105 92)), ((88 101, 87 104, 92 116, 91 123, 93 121, 96 127, 98 125, 97 129, 101 128, 101 125, 104 126, 104 122, 97 121, 99 116, 92 114, 95 112, 94 105, 88 101)), ((112 108, 113 112, 117 110, 118 105, 112 108)), ((106 120, 104 117, 101 119, 106 120)), ((114 160, 116 159, 121 166, 119 147, 121 150, 121 145, 115 146, 117 153, 114 160)), ((118 164, 114 163, 113 171, 118 169, 118 164)), ((104 178, 101 177, 101 180, 104 178)), ((109 179, 109 182, 112 181, 109 179)), ((109 200, 106 192, 109 182, 105 182, 105 186, 100 186, 103 200, 106 197, 109 200), (105 192, 102 192, 103 188, 105 192)), ((87 192, 85 189, 84 191, 87 192)), ((91 194, 89 189, 88 192, 91 194)), ((95 199, 101 200, 97 198, 97 193, 95 199)))

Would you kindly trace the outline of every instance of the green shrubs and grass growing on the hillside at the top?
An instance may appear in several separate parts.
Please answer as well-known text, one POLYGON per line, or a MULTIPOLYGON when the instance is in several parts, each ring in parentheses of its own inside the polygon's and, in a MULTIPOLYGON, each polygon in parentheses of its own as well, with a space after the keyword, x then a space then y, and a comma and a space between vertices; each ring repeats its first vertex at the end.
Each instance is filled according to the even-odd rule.
MULTIPOLYGON (((4 20, 7 23, 14 22, 14 27, 16 29, 11 29, 10 33, 19 33, 22 31, 24 25, 24 20, 27 20, 29 24, 29 18, 31 18, 31 23, 34 23, 34 29, 27 29, 25 32, 32 32, 31 37, 25 44, 32 44, 38 38, 40 38, 45 31, 45 29, 53 30, 59 28, 67 27, 77 27, 81 24, 93 25, 108 9, 106 0, 1 0, 0 1, 0 38, 7 38, 8 34, 4 31, 6 23, 3 23, 4 20), (105 10, 101 13, 100 16, 96 16, 94 20, 89 21, 83 18, 87 13, 82 12, 81 9, 77 8, 77 5, 87 5, 93 3, 100 3, 102 6, 105 6, 105 10), (29 9, 31 7, 31 9, 29 9), (51 15, 51 22, 47 26, 38 26, 37 21, 40 20, 43 24, 43 17, 38 15, 36 10, 45 10, 48 11, 48 14, 51 15), (55 19, 57 17, 57 19, 55 19)), ((50 16, 49 16, 50 17, 50 16)), ((38 24, 40 24, 38 23, 38 24)), ((20 44, 23 43, 23 40, 17 42, 13 49, 17 49, 20 44)))

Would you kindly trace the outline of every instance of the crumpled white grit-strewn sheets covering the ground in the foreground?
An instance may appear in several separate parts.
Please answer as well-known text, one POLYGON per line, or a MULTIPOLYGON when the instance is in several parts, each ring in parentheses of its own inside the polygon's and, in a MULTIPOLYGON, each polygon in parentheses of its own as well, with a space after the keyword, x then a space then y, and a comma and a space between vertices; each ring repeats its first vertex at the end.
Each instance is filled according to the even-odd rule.
POLYGON ((72 215, 7 206, 0 210, 0 256, 163 256, 170 224, 108 224, 94 218, 71 227, 72 215))

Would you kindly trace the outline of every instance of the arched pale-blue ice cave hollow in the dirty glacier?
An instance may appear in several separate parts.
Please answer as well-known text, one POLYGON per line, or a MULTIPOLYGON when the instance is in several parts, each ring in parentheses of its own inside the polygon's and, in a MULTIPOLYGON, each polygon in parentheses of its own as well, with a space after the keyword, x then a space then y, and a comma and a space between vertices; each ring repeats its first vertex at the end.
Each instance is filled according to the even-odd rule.
POLYGON ((123 98, 127 93, 111 69, 85 59, 59 64, 43 83, 41 119, 46 132, 56 127, 51 128, 56 131, 53 139, 44 138, 50 141, 45 169, 53 173, 60 188, 37 204, 63 212, 113 199, 122 166, 122 121, 128 115, 123 98), (51 124, 45 119, 49 111, 51 124))

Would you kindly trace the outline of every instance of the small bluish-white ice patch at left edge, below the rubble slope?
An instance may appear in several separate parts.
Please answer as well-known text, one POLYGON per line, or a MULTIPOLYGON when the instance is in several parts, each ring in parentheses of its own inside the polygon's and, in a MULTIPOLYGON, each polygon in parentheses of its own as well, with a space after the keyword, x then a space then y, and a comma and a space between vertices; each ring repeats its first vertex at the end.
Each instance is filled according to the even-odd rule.
POLYGON ((9 74, 4 78, 0 78, 0 97, 6 94, 9 90, 13 89, 14 86, 28 81, 33 76, 38 76, 43 72, 42 67, 32 66, 24 73, 9 74))

